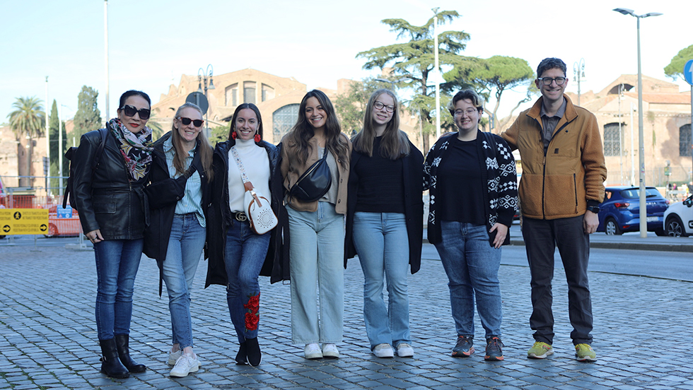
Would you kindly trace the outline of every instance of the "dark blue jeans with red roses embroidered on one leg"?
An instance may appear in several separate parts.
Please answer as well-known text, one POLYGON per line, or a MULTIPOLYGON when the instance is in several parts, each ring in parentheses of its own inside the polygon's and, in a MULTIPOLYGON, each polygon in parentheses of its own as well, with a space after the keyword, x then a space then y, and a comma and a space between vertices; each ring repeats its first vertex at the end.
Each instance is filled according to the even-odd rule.
POLYGON ((267 256, 272 232, 257 235, 248 221, 233 221, 226 230, 226 248, 223 261, 226 266, 226 302, 231 322, 238 335, 238 343, 257 337, 260 321, 260 284, 257 277, 267 256), (246 318, 248 322, 246 322, 246 318))

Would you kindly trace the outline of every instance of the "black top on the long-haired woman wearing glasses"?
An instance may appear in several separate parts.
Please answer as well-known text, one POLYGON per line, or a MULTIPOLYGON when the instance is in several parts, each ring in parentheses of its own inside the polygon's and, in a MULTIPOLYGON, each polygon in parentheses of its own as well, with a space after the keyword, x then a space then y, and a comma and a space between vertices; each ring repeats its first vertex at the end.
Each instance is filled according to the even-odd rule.
POLYGON ((359 200, 356 211, 366 213, 404 213, 404 177, 402 159, 380 155, 380 140, 373 141, 373 156, 363 155, 354 167, 359 176, 359 200))

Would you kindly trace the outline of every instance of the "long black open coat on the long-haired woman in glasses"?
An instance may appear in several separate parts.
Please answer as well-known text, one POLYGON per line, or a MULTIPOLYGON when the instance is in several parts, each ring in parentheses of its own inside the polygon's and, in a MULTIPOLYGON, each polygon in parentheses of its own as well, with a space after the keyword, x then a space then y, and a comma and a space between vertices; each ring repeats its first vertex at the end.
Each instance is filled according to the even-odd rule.
MULTIPOLYGON (((409 155, 402 158, 402 175, 404 177, 404 218, 409 238, 409 266, 412 273, 421 268, 421 244, 424 240, 424 155, 409 142, 409 155)), ((359 199, 359 175, 356 166, 364 155, 356 150, 351 151, 351 169, 349 170, 349 195, 347 196, 347 230, 344 240, 344 268, 347 259, 356 256, 354 246, 354 213, 359 199)))

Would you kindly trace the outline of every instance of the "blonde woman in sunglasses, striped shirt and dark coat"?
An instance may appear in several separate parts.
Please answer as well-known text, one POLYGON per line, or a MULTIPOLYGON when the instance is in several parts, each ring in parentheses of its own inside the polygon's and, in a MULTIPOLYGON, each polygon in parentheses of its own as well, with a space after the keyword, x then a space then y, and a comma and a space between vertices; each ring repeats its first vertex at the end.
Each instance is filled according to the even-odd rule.
MULTIPOLYGON (((171 377, 197 372, 200 362, 192 350, 190 291, 206 242, 206 214, 212 148, 202 131, 197 105, 178 107, 170 132, 154 143, 150 184, 145 192, 151 218, 144 253, 156 259, 166 283, 173 346, 168 364, 171 377)), ((161 294, 161 290, 159 291, 161 294)))

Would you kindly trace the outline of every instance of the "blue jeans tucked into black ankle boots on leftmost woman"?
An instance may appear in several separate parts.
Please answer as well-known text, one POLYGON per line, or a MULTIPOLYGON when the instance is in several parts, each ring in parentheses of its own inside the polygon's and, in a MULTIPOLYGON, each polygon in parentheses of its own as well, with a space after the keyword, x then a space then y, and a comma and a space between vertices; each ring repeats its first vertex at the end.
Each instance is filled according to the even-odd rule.
POLYGON ((96 257, 96 329, 99 340, 130 333, 132 292, 144 239, 94 244, 96 257))

